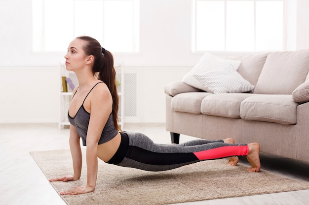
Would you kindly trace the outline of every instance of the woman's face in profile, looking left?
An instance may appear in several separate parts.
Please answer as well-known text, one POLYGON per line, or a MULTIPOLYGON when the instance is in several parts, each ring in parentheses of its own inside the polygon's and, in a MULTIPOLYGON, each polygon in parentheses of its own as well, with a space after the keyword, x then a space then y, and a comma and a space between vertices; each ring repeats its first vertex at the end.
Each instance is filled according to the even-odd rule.
POLYGON ((82 69, 86 65, 88 57, 82 50, 83 40, 74 39, 68 48, 68 53, 64 56, 66 59, 67 70, 76 71, 82 69))

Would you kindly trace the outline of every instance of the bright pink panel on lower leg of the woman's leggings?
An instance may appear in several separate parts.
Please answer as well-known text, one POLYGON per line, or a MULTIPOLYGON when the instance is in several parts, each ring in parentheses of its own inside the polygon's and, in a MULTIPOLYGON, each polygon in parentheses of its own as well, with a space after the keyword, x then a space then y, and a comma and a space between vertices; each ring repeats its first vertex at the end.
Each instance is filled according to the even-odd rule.
POLYGON ((220 159, 230 156, 247 156, 249 147, 246 146, 222 146, 204 151, 193 152, 199 160, 220 159))

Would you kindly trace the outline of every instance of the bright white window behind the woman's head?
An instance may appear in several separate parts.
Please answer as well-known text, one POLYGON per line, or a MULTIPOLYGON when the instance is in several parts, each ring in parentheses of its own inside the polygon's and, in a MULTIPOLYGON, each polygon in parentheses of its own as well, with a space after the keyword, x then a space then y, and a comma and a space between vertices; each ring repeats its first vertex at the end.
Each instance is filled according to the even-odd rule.
POLYGON ((139 0, 33 0, 33 51, 63 52, 89 35, 112 52, 139 51, 139 0))

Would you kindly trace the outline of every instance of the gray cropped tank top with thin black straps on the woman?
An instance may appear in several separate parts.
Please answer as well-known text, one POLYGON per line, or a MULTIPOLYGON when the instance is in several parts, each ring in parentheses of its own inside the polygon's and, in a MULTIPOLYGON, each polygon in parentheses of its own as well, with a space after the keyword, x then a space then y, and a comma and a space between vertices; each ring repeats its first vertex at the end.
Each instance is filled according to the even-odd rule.
MULTIPOLYGON (((103 82, 99 82, 99 83, 103 83, 103 82)), ((98 85, 99 83, 97 83, 96 85, 98 85)), ((96 85, 94 85, 93 88, 96 85)), ((93 88, 91 88, 91 90, 93 88)), ((87 96, 89 95, 91 90, 88 92, 85 99, 87 98, 87 96)), ((76 92, 74 93, 74 95, 76 94, 76 92)), ((74 95, 73 95, 73 97, 74 97, 74 95)), ((77 111, 77 114, 76 114, 75 117, 71 117, 69 115, 69 112, 68 112, 69 121, 73 126, 76 127, 77 133, 82 139, 82 145, 83 146, 86 146, 86 137, 87 137, 89 120, 90 120, 90 113, 88 113, 83 106, 85 99, 82 102, 82 105, 80 106, 79 110, 77 111)), ((102 130, 102 134, 101 134, 100 140, 98 142, 98 145, 112 140, 114 137, 116 137, 117 134, 118 134, 118 132, 117 132, 115 125, 114 125, 113 114, 111 113, 106 124, 105 124, 105 127, 102 130)))

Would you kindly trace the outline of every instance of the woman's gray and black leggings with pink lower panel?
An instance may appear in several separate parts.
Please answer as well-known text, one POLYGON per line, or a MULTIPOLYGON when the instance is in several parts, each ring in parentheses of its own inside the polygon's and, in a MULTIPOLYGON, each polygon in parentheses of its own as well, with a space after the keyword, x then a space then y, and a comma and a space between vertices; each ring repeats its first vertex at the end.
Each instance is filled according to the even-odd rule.
POLYGON ((107 163, 146 171, 164 171, 184 165, 230 156, 246 156, 246 144, 226 144, 223 140, 193 140, 180 145, 155 144, 141 133, 120 133, 121 143, 107 163))

